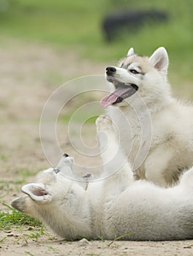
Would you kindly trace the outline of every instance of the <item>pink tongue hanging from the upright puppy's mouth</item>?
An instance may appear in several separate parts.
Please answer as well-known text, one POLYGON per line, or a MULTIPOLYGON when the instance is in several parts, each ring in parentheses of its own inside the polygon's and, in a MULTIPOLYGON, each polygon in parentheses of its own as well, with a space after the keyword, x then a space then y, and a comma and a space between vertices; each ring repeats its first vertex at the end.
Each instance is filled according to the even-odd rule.
POLYGON ((102 108, 106 108, 109 105, 112 105, 118 97, 121 97, 122 94, 124 94, 126 91, 128 91, 128 88, 118 87, 116 91, 113 92, 113 94, 107 95, 104 98, 101 99, 100 105, 102 108))

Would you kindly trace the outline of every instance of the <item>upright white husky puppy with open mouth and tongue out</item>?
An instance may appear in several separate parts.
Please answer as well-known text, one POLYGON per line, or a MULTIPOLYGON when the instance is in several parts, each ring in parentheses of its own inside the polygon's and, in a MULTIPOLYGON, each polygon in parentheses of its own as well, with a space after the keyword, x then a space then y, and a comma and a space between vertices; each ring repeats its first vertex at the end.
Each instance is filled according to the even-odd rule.
POLYGON ((130 48, 118 67, 107 67, 112 93, 101 100, 103 108, 110 106, 135 178, 163 187, 193 165, 193 108, 171 96, 167 67, 164 48, 149 58, 130 48))

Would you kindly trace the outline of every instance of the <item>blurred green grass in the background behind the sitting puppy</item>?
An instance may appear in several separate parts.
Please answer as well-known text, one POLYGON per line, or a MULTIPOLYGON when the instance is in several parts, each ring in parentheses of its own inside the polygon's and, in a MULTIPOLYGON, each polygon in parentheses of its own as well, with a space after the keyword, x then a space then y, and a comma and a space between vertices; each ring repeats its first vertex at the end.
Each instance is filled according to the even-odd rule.
POLYGON ((136 53, 151 55, 164 46, 171 60, 170 77, 181 86, 193 78, 192 11, 192 0, 0 0, 0 39, 1 45, 6 38, 23 39, 110 64, 116 64, 130 47, 136 53), (110 12, 126 9, 163 10, 169 20, 106 42, 102 19, 110 12))

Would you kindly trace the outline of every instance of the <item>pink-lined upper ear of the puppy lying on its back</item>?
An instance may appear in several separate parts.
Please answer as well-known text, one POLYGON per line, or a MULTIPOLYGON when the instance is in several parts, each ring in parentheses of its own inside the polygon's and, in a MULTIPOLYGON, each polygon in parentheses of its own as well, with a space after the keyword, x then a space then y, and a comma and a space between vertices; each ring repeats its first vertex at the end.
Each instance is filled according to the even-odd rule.
POLYGON ((30 183, 22 187, 22 192, 31 197, 32 200, 42 203, 48 203, 52 200, 52 195, 41 183, 30 183))

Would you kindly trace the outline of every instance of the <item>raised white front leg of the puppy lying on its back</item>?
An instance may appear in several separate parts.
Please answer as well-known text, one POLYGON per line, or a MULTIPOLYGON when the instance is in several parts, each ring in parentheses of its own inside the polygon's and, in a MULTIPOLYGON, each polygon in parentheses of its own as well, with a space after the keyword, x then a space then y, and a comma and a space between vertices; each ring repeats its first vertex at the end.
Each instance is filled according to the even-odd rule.
POLYGON ((96 119, 96 132, 103 168, 105 170, 103 176, 110 176, 113 173, 117 173, 119 178, 123 177, 124 179, 126 178, 127 181, 133 181, 131 167, 121 150, 118 129, 115 127, 110 117, 99 116, 99 118, 96 119))

